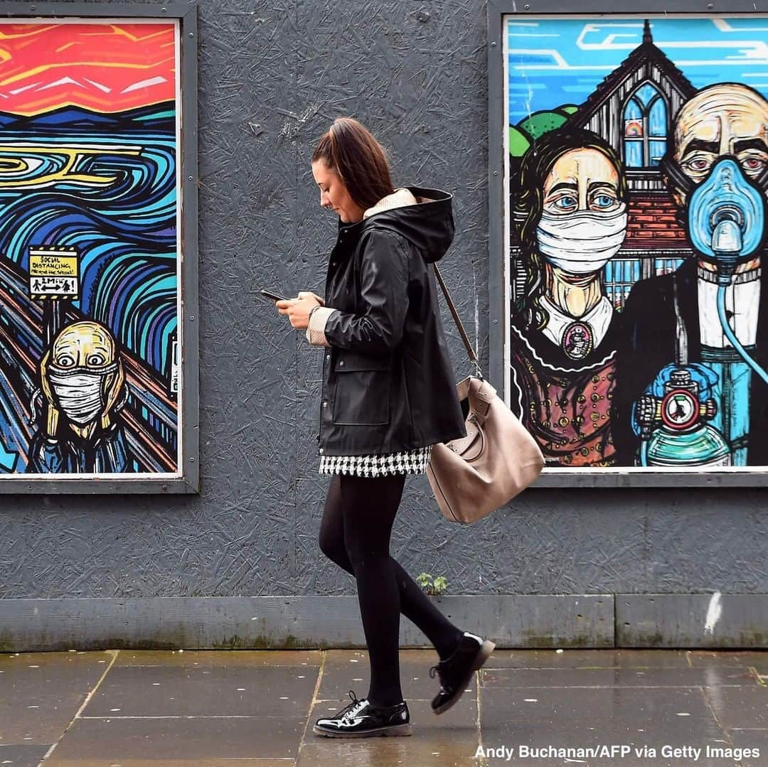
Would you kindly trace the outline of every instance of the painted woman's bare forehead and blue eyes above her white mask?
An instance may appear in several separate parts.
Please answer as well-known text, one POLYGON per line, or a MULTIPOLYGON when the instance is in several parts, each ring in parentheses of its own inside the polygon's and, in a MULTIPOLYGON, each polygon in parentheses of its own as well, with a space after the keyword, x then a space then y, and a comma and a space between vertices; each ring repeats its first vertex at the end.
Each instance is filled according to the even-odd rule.
POLYGON ((611 213, 619 207, 619 174, 596 149, 571 149, 559 157, 544 182, 544 211, 568 216, 579 210, 611 213))

